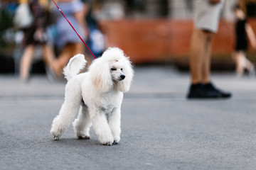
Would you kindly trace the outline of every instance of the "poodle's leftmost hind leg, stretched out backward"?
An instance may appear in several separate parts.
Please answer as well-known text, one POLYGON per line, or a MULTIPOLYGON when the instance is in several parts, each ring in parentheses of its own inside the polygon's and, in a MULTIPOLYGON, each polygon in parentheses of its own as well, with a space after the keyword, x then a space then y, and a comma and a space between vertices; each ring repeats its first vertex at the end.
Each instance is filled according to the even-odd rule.
POLYGON ((79 90, 68 89, 68 86, 66 86, 65 101, 60 108, 59 115, 53 119, 53 125, 50 130, 54 140, 58 140, 74 120, 81 100, 82 96, 79 90))

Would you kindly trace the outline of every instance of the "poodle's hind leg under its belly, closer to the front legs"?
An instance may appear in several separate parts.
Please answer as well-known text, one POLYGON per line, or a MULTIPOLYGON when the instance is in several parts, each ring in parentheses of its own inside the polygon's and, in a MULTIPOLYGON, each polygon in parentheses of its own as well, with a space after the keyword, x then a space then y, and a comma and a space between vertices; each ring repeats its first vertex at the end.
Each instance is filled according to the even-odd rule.
POLYGON ((89 140, 90 139, 90 127, 92 126, 92 122, 90 120, 90 115, 87 106, 82 103, 82 107, 80 108, 78 118, 72 123, 75 134, 78 139, 89 140))

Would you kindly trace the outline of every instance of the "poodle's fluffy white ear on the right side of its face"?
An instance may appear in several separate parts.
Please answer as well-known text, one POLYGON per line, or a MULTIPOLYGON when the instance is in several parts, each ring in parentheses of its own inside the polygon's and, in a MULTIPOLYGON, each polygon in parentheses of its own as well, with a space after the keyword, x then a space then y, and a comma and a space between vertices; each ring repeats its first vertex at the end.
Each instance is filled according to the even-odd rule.
POLYGON ((125 75, 125 79, 122 81, 119 81, 116 84, 116 86, 117 86, 117 90, 122 92, 127 92, 129 91, 130 86, 132 84, 132 78, 134 77, 134 70, 132 69, 132 64, 129 61, 128 57, 125 57, 125 59, 122 60, 122 62, 124 62, 124 67, 122 72, 125 75))

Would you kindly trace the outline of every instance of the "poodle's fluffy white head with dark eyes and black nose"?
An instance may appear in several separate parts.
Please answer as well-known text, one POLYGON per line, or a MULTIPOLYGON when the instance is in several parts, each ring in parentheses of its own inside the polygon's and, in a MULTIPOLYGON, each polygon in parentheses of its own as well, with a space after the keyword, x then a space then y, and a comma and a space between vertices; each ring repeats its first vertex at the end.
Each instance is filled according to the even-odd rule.
POLYGON ((112 88, 129 91, 134 76, 129 57, 125 57, 124 52, 117 47, 108 48, 102 57, 92 62, 89 70, 92 83, 102 92, 112 88))

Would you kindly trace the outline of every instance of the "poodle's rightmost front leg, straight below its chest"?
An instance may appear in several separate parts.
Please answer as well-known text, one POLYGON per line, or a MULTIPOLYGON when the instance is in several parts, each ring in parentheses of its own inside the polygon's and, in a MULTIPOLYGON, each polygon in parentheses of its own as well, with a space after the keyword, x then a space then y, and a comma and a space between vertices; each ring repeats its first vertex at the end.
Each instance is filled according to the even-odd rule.
POLYGON ((112 114, 110 114, 109 120, 110 129, 112 131, 112 135, 114 137, 113 144, 116 145, 120 140, 121 134, 121 110, 120 108, 114 108, 112 114))

